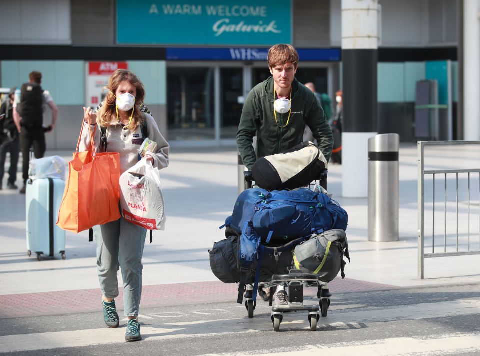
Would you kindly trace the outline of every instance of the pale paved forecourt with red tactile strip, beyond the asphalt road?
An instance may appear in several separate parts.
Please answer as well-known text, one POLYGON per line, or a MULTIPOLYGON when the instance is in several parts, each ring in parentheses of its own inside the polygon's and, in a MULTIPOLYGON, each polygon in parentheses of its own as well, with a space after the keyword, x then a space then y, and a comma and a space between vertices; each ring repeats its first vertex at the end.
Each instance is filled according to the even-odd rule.
MULTIPOLYGON (((426 154, 426 168, 478 168, 480 165, 479 150, 475 147, 460 147, 455 150, 430 149, 426 154)), ((47 152, 47 155, 53 154, 59 154, 65 159, 69 159, 71 153, 47 152)), ((218 226, 222 224, 226 216, 231 214, 237 196, 236 161, 236 151, 228 147, 200 150, 172 149, 170 166, 161 172, 167 223, 165 231, 154 232, 153 243, 145 246, 144 288, 140 311, 142 315, 145 315, 143 319, 145 323, 149 325, 148 327, 152 327, 152 329, 144 328, 143 333, 152 339, 155 339, 155 335, 159 337, 163 331, 160 330, 162 326, 156 323, 156 319, 148 319, 151 316, 146 315, 150 315, 150 313, 161 314, 161 310, 168 310, 169 313, 174 314, 177 312, 175 308, 181 308, 181 305, 184 305, 181 308, 182 312, 185 308, 193 308, 200 310, 198 311, 200 314, 204 308, 210 310, 207 312, 208 314, 214 314, 215 311, 211 310, 215 309, 237 310, 239 308, 242 314, 245 312, 244 309, 241 309, 241 305, 235 304, 236 285, 226 285, 216 280, 210 271, 208 262, 208 249, 212 247, 213 242, 224 236, 223 231, 218 230, 218 226)), ((6 180, 6 177, 4 179, 6 180)), ((446 189, 448 212, 446 223, 443 218, 443 177, 437 177, 435 180, 437 201, 435 246, 437 249, 440 247, 443 249, 446 236, 447 251, 455 250, 457 235, 454 208, 455 189, 451 186, 451 180, 448 178, 446 189)), ((479 181, 478 174, 471 174, 470 204, 467 206, 464 198, 467 196, 468 178, 466 175, 459 176, 459 250, 468 248, 468 234, 470 235, 470 250, 480 249, 479 181), (470 210, 469 215, 468 209, 470 210), (468 216, 470 216, 469 219, 468 216)), ((425 189, 426 210, 428 214, 432 215, 432 187, 426 186, 425 189)), ((330 290, 334 296, 338 295, 343 298, 342 295, 348 295, 348 292, 361 292, 360 295, 362 295, 362 293, 374 290, 404 290, 404 288, 416 286, 444 289, 446 286, 456 285, 458 288, 471 289, 472 285, 478 285, 480 282, 480 255, 429 258, 425 260, 425 279, 420 280, 417 277, 416 145, 402 144, 400 147, 400 233, 398 241, 368 241, 367 198, 343 198, 341 196, 341 165, 330 165, 328 190, 349 214, 347 237, 352 257, 351 263, 346 265, 347 277, 344 280, 337 278, 330 283, 330 290), (465 285, 465 287, 461 287, 461 285, 465 285)), ((68 315, 79 319, 83 314, 84 317, 94 317, 101 321, 101 317, 98 318, 101 307, 96 277, 95 247, 93 243, 88 242, 87 232, 79 234, 67 232, 66 260, 56 256, 55 259, 45 258, 37 261, 36 258, 29 258, 26 255, 24 195, 18 194, 17 191, 1 190, 0 206, 0 242, 2 246, 0 253, 0 305, 2 305, 0 318, 3 321, 12 320, 7 322, 8 325, 28 323, 27 320, 30 320, 30 317, 25 318, 25 316, 35 316, 39 318, 37 320, 42 320, 42 317, 58 315, 55 320, 62 320, 62 317, 68 317, 68 315), (13 320, 15 321, 13 322, 13 320)), ((429 238, 426 246, 431 249, 433 222, 430 215, 426 216, 426 224, 429 225, 425 229, 429 238)), ((427 248, 425 252, 428 252, 427 248)), ((121 280, 121 276, 119 278, 121 280)), ((308 293, 310 296, 314 294, 310 291, 308 293)), ((356 294, 358 293, 352 295, 356 294)), ((468 298, 466 297, 466 299, 468 298)), ((458 303, 459 308, 462 308, 465 303, 468 304, 463 301, 458 303)), ((450 304, 445 301, 444 307, 448 307, 450 304)), ((117 305, 121 305, 121 295, 117 305)), ((443 304, 441 306, 443 307, 443 304)), ((262 306, 262 308, 267 308, 267 306, 262 306)), ((470 308, 470 311, 478 311, 475 303, 469 303, 467 308, 470 308), (470 308, 472 305, 473 309, 470 308)), ((247 330, 271 329, 267 310, 260 310, 264 313, 264 316, 259 318, 262 322, 251 324, 251 320, 248 320, 247 330)), ((223 312, 218 311, 219 314, 223 312)), ((404 310, 402 309, 401 312, 404 310)), ((411 312, 413 313, 414 309, 411 312)), ((187 322, 189 325, 195 324, 199 327, 206 327, 208 330, 211 329, 212 333, 226 332, 228 334, 228 328, 245 331, 243 328, 245 323, 235 315, 230 315, 230 321, 213 322, 213 326, 210 319, 208 322, 203 320, 197 323, 190 319, 182 320, 181 317, 175 318, 173 324, 176 325, 175 328, 182 329, 183 322, 187 322), (215 323, 217 323, 216 326, 215 323), (237 323, 240 323, 238 326, 240 328, 235 326, 237 323)), ((51 318, 49 320, 51 321, 51 318)), ((334 323, 335 320, 328 318, 330 326, 325 327, 331 330, 331 323, 334 323)), ((55 321, 54 323, 58 324, 59 322, 55 321)), ((295 328, 296 321, 292 320, 291 322, 292 327, 295 328)), ((283 325, 282 323, 282 328, 283 325)), ((36 331, 48 332, 48 327, 45 327, 43 325, 36 331)), ((75 330, 81 330, 84 327, 78 326, 75 330)), ((103 334, 103 332, 112 330, 100 331, 100 328, 103 327, 101 322, 97 327, 98 330, 94 331, 94 334, 97 334, 95 337, 99 337, 104 343, 116 339, 116 336, 111 333, 108 337, 103 334)), ((167 328, 170 327, 173 326, 167 328)), ((27 330, 15 329, 13 326, 11 326, 11 331, 8 330, 10 329, 0 329, 0 344, 6 344, 2 342, 2 335, 29 333, 27 330)), ((193 332, 193 329, 191 331, 193 332)), ((118 330, 118 332, 120 331, 118 330)), ((122 330, 122 332, 124 331, 122 330)), ((180 337, 181 334, 184 333, 175 332, 171 335, 175 339, 175 335, 180 337)), ((85 337, 92 337, 92 333, 88 335, 85 337)), ((191 332, 185 333, 185 337, 189 337, 188 335, 191 336, 191 332)), ((43 336, 56 337, 47 334, 43 336)), ((59 335, 57 336, 59 337, 59 335)), ((464 335, 465 342, 476 340, 475 338, 471 339, 470 336, 464 335)), ((101 340, 95 341, 95 337, 92 339, 92 344, 101 344, 101 340)), ((162 337, 160 338, 163 339, 162 337)), ((58 339, 61 340, 61 337, 58 339)), ((18 338, 15 340, 15 342, 24 342, 18 338)), ((121 335, 119 340, 122 340, 121 335)), ((6 342, 7 339, 3 339, 3 341, 6 342)), ((338 340, 338 342, 340 341, 338 340)), ((84 341, 82 342, 81 345, 84 344, 84 341)), ((58 344, 53 348, 58 347, 61 345, 58 344)), ((21 349, 32 348, 13 347, 11 351, 21 349)), ((225 352, 227 351, 233 352, 234 350, 225 350, 225 352)), ((205 349, 205 352, 213 351, 205 349)), ((194 354, 201 353, 194 352, 194 354)))

